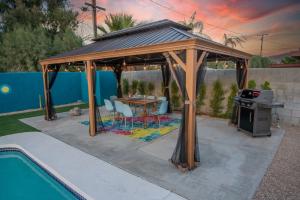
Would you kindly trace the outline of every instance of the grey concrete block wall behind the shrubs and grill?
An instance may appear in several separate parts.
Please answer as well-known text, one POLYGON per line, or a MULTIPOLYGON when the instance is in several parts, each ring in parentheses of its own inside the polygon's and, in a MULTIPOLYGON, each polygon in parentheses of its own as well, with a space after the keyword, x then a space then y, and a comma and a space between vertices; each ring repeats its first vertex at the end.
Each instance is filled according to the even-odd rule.
MULTIPOLYGON (((211 99, 212 84, 219 79, 223 89, 226 91, 224 100, 224 112, 229 95, 230 85, 236 82, 236 71, 234 69, 208 69, 205 76, 206 97, 205 105, 201 111, 210 113, 209 100, 211 99)), ((126 78, 131 83, 132 80, 144 80, 155 83, 156 95, 161 95, 162 75, 160 70, 125 72, 122 78, 126 78)), ((249 70, 249 80, 255 80, 257 88, 269 81, 274 91, 274 101, 283 102, 284 108, 278 108, 282 123, 300 126, 300 69, 298 68, 251 68, 249 70)), ((273 109, 273 111, 275 111, 273 109)))

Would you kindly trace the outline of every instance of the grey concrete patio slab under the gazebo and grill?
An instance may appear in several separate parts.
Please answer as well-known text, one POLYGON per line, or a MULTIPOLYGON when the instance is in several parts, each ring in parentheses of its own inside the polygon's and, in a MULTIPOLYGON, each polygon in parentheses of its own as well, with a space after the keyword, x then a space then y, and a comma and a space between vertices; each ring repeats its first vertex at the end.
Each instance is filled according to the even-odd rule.
MULTIPOLYGON (((175 117, 178 115, 174 115, 175 117)), ((43 116, 23 119, 43 133, 187 199, 252 199, 271 163, 284 131, 273 129, 272 137, 252 138, 228 126, 226 120, 198 117, 201 163, 181 173, 168 159, 177 140, 177 130, 150 143, 114 133, 88 135, 87 110, 79 117, 58 114, 58 120, 43 116)))

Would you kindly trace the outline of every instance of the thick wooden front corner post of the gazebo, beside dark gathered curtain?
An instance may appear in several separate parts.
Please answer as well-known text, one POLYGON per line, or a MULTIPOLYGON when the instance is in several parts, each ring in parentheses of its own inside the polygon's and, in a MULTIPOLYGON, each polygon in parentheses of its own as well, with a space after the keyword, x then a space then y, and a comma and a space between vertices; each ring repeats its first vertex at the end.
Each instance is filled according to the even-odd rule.
POLYGON ((197 49, 186 50, 186 91, 189 97, 187 121, 187 164, 195 168, 195 124, 196 124, 197 49))

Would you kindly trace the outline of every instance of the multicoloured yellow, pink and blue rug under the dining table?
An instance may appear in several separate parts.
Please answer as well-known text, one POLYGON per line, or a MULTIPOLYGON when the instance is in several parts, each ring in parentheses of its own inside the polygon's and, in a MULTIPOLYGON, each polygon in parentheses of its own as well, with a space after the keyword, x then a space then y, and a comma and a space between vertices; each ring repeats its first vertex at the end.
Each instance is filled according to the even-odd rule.
MULTIPOLYGON (((158 127, 158 122, 155 121, 153 117, 148 117, 147 128, 144 128, 144 121, 142 117, 134 118, 133 128, 131 125, 131 118, 127 119, 126 127, 124 121, 122 122, 121 120, 117 120, 113 123, 113 117, 111 116, 102 117, 102 121, 105 131, 120 135, 127 135, 143 142, 150 142, 179 128, 181 120, 171 118, 169 116, 162 116, 160 117, 160 127, 158 127)), ((89 125, 89 121, 83 121, 80 123, 89 125)))

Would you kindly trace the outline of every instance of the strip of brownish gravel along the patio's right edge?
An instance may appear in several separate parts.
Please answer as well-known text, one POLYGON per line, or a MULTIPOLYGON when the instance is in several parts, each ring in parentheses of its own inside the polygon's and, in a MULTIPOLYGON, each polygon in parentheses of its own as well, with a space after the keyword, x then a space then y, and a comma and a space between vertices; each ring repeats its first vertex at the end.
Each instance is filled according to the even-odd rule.
POLYGON ((300 128, 288 127, 254 200, 300 200, 300 128))

